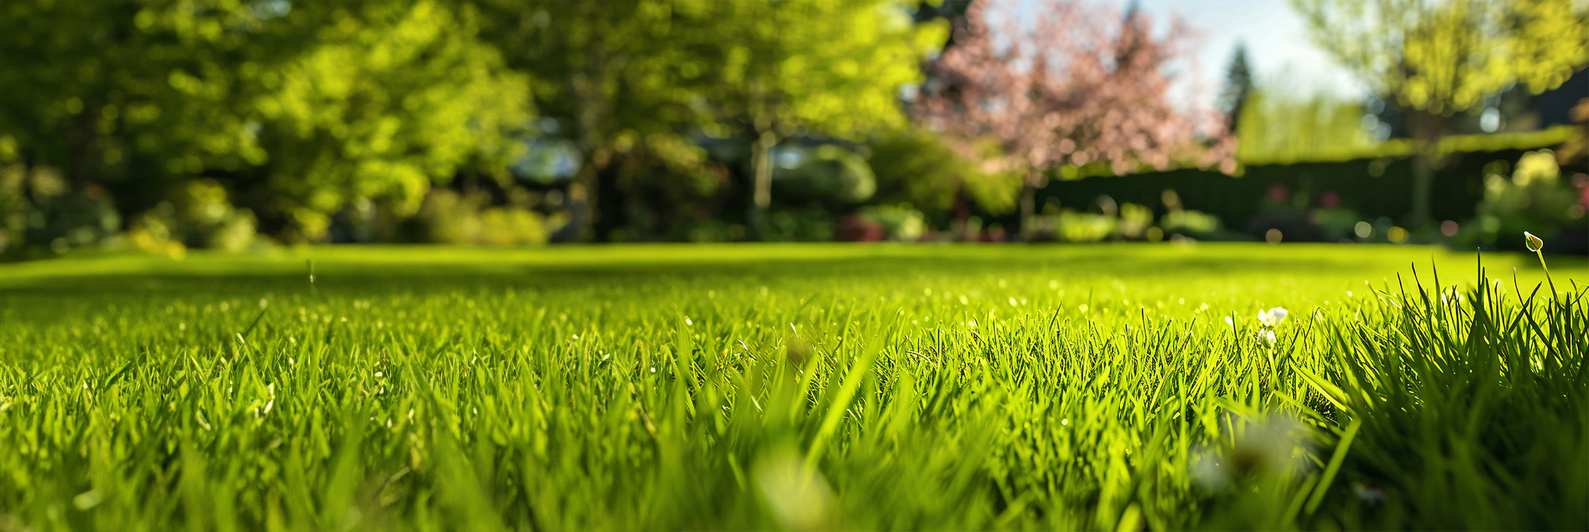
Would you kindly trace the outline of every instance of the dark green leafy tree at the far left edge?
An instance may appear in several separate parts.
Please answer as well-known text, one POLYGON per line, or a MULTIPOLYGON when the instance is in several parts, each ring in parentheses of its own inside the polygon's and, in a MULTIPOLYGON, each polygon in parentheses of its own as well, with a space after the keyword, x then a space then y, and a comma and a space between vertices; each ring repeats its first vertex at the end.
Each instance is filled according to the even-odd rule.
POLYGON ((0 165, 30 181, 5 214, 37 219, 21 243, 84 235, 84 210, 114 232, 102 219, 205 168, 264 160, 240 67, 288 51, 259 44, 267 16, 227 0, 0 3, 0 165))

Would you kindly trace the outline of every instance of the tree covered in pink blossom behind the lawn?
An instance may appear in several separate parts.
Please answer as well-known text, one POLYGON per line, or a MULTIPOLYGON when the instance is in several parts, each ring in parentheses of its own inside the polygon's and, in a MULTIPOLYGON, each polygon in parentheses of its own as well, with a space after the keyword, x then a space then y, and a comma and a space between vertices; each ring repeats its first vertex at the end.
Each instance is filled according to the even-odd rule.
POLYGON ((933 83, 914 113, 961 140, 971 156, 984 140, 1001 148, 985 170, 1025 175, 1022 227, 1049 168, 1106 164, 1119 175, 1144 164, 1193 162, 1235 170, 1224 127, 1206 127, 1200 113, 1168 98, 1166 67, 1187 52, 1184 25, 1155 38, 1139 11, 1111 25, 1074 2, 1041 3, 1039 13, 1019 19, 1017 8, 1014 0, 971 6, 957 24, 955 46, 933 62, 933 83), (1209 138, 1200 138, 1200 129, 1209 138))

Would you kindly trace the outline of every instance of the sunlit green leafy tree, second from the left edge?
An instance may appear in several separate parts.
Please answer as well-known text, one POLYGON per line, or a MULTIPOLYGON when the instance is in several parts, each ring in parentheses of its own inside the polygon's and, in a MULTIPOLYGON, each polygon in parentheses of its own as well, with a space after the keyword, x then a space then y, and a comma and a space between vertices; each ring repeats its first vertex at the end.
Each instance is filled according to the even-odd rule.
POLYGON ((270 210, 289 240, 378 200, 413 214, 459 173, 505 178, 529 125, 529 81, 475 38, 477 10, 439 2, 310 6, 291 24, 316 46, 259 76, 254 102, 270 210))

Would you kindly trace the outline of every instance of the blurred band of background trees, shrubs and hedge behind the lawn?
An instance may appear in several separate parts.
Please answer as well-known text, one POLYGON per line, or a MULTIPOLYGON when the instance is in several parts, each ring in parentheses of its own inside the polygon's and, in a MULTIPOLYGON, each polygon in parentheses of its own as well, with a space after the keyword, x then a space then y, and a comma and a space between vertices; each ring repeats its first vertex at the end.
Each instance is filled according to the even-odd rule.
POLYGON ((1197 29, 1085 0, 3 2, 0 257, 1524 229, 1589 253, 1589 3, 1292 8, 1367 97, 1238 44, 1187 103, 1197 29))

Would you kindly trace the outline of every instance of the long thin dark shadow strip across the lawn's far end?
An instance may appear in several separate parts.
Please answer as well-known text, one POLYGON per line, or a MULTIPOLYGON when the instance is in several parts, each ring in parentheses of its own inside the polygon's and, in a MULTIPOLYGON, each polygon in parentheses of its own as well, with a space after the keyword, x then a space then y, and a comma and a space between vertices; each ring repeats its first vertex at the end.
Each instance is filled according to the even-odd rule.
MULTIPOLYGON (((421 262, 400 265, 326 264, 316 265, 315 289, 329 294, 359 292, 450 292, 478 289, 601 289, 648 286, 659 281, 682 284, 763 284, 787 278, 876 279, 879 283, 914 278, 999 276, 1042 273, 1061 279, 1087 278, 1241 278, 1343 273, 1363 265, 1359 260, 1309 257, 822 257, 774 260, 675 260, 601 265, 564 264, 456 264, 421 262)), ((0 287, 0 302, 16 295, 79 297, 149 292, 227 295, 292 294, 310 291, 307 272, 276 273, 103 273, 41 276, 19 286, 0 287)))

